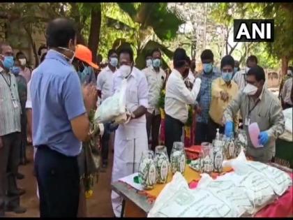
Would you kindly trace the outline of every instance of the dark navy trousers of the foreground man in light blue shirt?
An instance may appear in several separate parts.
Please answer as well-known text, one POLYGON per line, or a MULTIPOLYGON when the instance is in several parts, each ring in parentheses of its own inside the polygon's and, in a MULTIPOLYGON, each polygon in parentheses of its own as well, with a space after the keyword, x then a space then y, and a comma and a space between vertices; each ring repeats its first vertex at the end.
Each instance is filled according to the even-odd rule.
POLYGON ((45 145, 35 159, 40 217, 77 217, 80 175, 77 156, 65 156, 45 145))

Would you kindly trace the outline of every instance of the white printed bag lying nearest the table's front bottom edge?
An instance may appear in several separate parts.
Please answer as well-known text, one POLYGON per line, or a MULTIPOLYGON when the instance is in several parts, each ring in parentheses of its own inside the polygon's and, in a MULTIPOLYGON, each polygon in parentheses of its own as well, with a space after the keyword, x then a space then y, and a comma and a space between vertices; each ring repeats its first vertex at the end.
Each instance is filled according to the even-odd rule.
POLYGON ((207 189, 189 189, 186 179, 176 172, 156 199, 148 217, 239 217, 225 198, 207 189))

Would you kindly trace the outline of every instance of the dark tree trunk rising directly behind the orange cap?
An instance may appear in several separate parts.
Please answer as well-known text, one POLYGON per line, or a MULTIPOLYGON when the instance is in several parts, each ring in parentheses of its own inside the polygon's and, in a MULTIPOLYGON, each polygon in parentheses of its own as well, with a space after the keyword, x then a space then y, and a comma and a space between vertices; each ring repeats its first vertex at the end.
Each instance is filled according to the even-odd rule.
POLYGON ((98 43, 100 38, 100 22, 102 18, 100 3, 91 10, 91 27, 89 29, 89 49, 93 54, 93 62, 96 63, 98 43))

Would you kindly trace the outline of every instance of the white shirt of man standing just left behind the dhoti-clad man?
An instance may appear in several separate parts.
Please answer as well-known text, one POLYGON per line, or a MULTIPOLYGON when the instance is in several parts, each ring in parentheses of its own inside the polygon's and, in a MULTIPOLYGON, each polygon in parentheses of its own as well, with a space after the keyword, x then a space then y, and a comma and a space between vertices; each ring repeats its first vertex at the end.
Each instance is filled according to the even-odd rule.
POLYGON ((102 91, 102 102, 112 95, 113 75, 114 73, 111 71, 109 66, 104 68, 103 71, 98 74, 97 89, 102 91))

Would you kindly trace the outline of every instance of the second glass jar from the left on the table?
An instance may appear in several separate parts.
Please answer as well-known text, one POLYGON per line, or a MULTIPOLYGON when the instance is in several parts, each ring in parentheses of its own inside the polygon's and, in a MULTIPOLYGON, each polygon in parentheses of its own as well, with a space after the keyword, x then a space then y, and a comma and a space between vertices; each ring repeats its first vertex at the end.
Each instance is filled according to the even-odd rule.
POLYGON ((156 163, 156 182, 165 184, 169 174, 169 159, 167 155, 167 148, 165 146, 157 146, 155 150, 155 163, 156 163))

